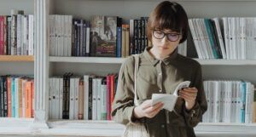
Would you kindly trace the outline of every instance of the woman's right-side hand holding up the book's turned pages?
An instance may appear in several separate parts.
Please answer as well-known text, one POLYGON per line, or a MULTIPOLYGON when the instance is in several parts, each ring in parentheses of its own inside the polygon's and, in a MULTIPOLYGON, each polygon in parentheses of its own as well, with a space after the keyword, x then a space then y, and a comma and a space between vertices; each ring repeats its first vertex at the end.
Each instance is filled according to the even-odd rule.
POLYGON ((197 88, 183 88, 179 91, 179 96, 185 100, 186 109, 189 111, 195 106, 195 99, 197 96, 197 88))

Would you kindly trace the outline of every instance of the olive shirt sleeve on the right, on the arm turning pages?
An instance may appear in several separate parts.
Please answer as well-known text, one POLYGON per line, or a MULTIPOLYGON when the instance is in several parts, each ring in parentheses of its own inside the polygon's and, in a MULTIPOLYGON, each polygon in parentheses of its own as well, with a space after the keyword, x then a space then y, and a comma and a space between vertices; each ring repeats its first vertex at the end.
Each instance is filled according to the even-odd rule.
POLYGON ((203 88, 200 65, 198 65, 195 71, 194 81, 191 83, 191 86, 198 90, 195 106, 193 106, 191 110, 187 111, 183 103, 183 116, 187 125, 192 128, 202 121, 202 115, 207 111, 207 99, 203 88))

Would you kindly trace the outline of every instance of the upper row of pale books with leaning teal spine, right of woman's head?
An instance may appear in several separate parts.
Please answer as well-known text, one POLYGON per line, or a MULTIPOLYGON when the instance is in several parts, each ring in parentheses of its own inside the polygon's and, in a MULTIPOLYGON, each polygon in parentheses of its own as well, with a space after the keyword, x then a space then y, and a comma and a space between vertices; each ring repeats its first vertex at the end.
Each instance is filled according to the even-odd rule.
POLYGON ((199 59, 255 60, 255 18, 189 19, 199 59))

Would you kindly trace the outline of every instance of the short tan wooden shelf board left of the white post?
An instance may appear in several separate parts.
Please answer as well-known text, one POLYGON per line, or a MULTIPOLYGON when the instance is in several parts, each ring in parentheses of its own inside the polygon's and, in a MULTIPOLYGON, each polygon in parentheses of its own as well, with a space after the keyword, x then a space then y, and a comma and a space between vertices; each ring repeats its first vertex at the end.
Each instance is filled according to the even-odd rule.
POLYGON ((0 55, 0 61, 34 61, 33 55, 0 55))

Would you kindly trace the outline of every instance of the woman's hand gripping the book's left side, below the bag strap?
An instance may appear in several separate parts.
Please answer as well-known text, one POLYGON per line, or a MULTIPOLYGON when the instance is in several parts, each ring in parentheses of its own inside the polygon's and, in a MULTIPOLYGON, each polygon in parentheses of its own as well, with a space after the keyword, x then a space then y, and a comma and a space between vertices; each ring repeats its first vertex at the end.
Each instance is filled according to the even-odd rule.
POLYGON ((154 106, 151 106, 152 100, 145 100, 143 104, 140 106, 136 106, 133 110, 133 115, 136 118, 141 117, 148 117, 152 118, 154 117, 164 106, 163 103, 157 103, 154 106))

